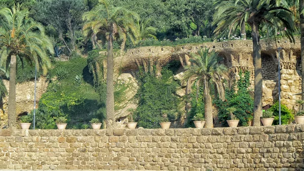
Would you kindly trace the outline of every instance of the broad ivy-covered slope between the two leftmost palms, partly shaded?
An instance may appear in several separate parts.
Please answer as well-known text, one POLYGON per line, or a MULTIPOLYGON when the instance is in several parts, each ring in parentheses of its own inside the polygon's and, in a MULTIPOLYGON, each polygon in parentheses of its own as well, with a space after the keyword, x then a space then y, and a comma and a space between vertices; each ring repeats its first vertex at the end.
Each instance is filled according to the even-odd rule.
POLYGON ((56 61, 47 76, 49 86, 39 101, 37 128, 56 128, 56 117, 68 119, 68 128, 87 127, 92 118, 104 119, 103 102, 93 85, 87 59, 56 61))

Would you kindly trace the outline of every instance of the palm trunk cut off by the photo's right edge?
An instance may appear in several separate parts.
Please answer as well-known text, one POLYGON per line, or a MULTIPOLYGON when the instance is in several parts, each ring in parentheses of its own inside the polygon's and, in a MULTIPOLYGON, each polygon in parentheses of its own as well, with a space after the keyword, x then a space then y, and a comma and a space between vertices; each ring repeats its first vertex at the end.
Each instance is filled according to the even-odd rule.
MULTIPOLYGON (((300 0, 300 11, 304 8, 304 0, 300 0)), ((302 100, 304 100, 304 14, 300 14, 300 30, 301 30, 301 77, 302 77, 302 100)), ((302 105, 304 110, 304 105, 302 105)))

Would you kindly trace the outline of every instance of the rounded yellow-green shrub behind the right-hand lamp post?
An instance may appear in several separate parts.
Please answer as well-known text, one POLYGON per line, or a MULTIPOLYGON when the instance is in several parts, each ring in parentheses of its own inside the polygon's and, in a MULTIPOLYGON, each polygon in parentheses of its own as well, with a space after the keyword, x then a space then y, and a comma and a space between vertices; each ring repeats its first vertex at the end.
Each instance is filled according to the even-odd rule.
MULTIPOLYGON (((274 125, 279 124, 279 102, 275 102, 275 104, 268 109, 268 111, 272 111, 274 113, 274 125)), ((293 121, 294 117, 292 112, 287 108, 286 105, 281 104, 281 122, 283 125, 290 124, 293 121)))

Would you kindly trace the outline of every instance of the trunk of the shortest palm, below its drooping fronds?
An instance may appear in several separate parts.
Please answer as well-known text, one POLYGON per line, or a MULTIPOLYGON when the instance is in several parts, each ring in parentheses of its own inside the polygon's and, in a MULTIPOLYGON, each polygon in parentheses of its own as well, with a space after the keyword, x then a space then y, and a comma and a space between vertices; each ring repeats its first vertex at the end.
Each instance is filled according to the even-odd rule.
POLYGON ((213 128, 212 100, 209 86, 209 80, 204 80, 205 127, 213 128))

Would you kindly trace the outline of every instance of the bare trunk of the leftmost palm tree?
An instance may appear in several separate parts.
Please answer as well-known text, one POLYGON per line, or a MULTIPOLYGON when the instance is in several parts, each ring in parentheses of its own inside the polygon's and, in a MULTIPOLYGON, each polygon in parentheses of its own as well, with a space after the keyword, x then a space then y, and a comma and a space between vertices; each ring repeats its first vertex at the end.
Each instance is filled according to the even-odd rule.
POLYGON ((16 66, 17 66, 17 59, 16 55, 11 55, 11 62, 10 62, 10 90, 9 90, 9 127, 14 128, 16 127, 16 66))

